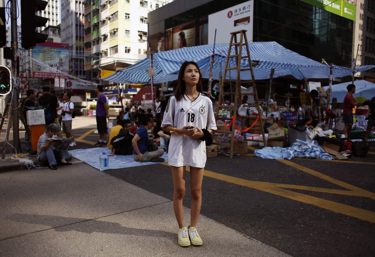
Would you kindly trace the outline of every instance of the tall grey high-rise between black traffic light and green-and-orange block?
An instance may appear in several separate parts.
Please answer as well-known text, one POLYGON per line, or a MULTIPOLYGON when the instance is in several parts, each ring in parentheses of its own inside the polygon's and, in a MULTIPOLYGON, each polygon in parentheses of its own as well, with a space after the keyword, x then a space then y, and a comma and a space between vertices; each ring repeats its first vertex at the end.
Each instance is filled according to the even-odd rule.
POLYGON ((69 45, 70 74, 86 79, 83 0, 61 0, 61 42, 69 45))

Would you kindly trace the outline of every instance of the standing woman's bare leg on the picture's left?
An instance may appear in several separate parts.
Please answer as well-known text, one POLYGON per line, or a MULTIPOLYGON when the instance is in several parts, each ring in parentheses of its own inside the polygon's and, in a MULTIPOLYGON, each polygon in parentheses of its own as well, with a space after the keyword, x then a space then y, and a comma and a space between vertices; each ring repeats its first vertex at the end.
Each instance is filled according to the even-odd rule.
POLYGON ((184 225, 184 209, 182 206, 182 200, 185 195, 185 174, 186 168, 185 166, 181 167, 174 167, 172 168, 172 176, 173 176, 173 209, 174 215, 176 216, 176 220, 178 223, 178 228, 185 227, 184 225))

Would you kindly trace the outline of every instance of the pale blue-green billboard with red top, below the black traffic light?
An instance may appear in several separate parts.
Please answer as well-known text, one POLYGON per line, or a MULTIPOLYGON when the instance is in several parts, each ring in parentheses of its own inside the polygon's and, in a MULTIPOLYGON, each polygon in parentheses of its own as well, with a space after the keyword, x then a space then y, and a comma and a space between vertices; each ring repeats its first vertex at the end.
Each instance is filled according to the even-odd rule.
MULTIPOLYGON (((52 67, 56 70, 60 70, 65 73, 69 73, 69 45, 54 42, 40 43, 35 46, 31 51, 31 57, 38 60, 39 62, 52 67)), ((40 66, 33 62, 32 74, 34 78, 68 78, 64 75, 59 75, 46 67, 40 66)))

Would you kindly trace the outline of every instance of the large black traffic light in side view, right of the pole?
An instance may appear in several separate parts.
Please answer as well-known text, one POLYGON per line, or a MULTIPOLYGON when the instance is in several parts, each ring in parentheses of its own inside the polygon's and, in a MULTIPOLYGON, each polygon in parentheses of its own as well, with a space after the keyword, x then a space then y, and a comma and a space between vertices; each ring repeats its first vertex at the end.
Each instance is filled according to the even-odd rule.
POLYGON ((37 27, 43 27, 48 18, 35 15, 36 11, 42 11, 48 1, 21 0, 21 46, 25 49, 33 48, 38 43, 44 43, 48 35, 35 32, 37 27))

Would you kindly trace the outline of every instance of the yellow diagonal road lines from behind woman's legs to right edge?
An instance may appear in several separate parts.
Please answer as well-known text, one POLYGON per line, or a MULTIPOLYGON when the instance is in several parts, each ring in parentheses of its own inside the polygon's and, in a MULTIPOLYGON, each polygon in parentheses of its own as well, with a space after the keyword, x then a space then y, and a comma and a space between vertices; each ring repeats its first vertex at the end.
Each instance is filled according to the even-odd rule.
MULTIPOLYGON (((308 203, 311 205, 315 205, 330 211, 339 212, 341 214, 345 214, 351 217, 359 218, 361 220, 369 221, 375 223, 375 212, 367 211, 364 209, 356 208, 353 206, 345 205, 342 203, 336 203, 330 200, 320 199, 318 197, 309 196, 302 193, 293 192, 290 190, 286 190, 284 188, 293 188, 293 189, 300 189, 300 190, 309 190, 309 191, 316 191, 316 192, 323 192, 323 193, 335 193, 335 194, 344 194, 349 196, 362 196, 368 197, 371 199, 375 199, 375 194, 369 192, 367 190, 363 190, 362 188, 355 187, 353 185, 347 184, 345 182, 339 181, 337 179, 331 178, 329 176, 323 175, 322 173, 316 172, 309 168, 300 166, 295 164, 291 161, 287 160, 279 160, 287 165, 296 167, 304 172, 307 172, 311 175, 317 176, 318 178, 324 179, 326 181, 330 181, 336 185, 341 187, 350 189, 350 190, 337 190, 337 189, 328 189, 328 188, 317 188, 317 187, 307 187, 301 185, 287 185, 287 184, 278 184, 272 182, 261 182, 261 181, 250 181, 242 178, 236 178, 233 176, 224 175, 221 173, 211 172, 209 170, 204 170, 204 176, 218 179, 221 181, 226 181, 236 185, 242 185, 249 188, 254 188, 257 190, 261 190, 267 193, 276 194, 278 196, 286 197, 292 200, 297 200, 299 202, 308 203)), ((166 166, 169 166, 168 163, 162 163, 166 166)), ((190 170, 190 167, 186 167, 186 170, 190 170)))

